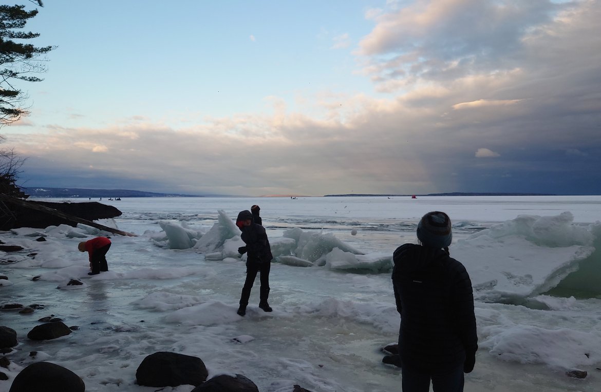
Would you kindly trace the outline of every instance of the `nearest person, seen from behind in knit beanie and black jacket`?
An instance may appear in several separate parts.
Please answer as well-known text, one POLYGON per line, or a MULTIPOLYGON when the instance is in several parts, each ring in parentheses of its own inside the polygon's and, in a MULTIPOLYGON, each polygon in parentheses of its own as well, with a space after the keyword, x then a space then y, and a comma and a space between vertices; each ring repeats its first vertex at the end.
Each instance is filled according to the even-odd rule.
POLYGON ((451 258, 451 221, 427 213, 417 227, 419 245, 394 251, 392 285, 401 315, 398 350, 403 392, 463 391, 478 349, 474 295, 468 272, 451 258))

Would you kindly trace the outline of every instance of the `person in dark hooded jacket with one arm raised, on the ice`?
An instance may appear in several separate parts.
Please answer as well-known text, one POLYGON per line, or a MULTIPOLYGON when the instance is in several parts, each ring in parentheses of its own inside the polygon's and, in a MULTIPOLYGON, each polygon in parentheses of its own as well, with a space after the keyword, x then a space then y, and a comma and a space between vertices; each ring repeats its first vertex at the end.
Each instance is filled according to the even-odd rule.
POLYGON ((240 316, 246 314, 246 306, 248 306, 248 299, 251 297, 251 289, 257 273, 260 273, 261 281, 259 307, 264 312, 271 312, 272 309, 267 303, 267 298, 269 297, 269 270, 273 256, 265 229, 252 222, 252 213, 248 210, 240 211, 236 219, 236 226, 242 231, 240 237, 246 244, 246 246, 240 247, 238 252, 241 255, 248 253, 246 280, 242 288, 242 295, 240 295, 240 307, 237 313, 240 316))

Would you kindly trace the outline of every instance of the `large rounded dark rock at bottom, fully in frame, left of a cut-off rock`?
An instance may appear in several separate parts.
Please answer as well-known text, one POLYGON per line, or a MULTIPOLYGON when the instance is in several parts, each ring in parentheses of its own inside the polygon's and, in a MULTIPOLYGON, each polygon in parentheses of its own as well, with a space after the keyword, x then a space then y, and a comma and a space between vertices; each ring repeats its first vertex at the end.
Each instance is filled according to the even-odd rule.
POLYGON ((144 358, 136 370, 136 381, 146 387, 197 386, 206 381, 208 375, 200 358, 160 351, 144 358))

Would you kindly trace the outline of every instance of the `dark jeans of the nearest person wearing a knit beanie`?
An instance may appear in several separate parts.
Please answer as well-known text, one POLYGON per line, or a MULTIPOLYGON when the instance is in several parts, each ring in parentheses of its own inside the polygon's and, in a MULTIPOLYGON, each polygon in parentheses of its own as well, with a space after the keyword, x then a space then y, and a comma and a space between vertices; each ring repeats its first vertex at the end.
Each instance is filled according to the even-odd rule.
POLYGON ((403 363, 403 392, 428 392, 430 380, 434 392, 463 392, 463 364, 445 373, 419 373, 403 363))

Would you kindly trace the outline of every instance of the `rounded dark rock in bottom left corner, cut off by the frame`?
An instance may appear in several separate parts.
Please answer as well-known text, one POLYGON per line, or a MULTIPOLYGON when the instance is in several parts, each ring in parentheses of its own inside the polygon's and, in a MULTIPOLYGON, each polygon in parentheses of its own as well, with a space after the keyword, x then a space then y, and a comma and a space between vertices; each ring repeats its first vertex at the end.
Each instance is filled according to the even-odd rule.
POLYGON ((84 392, 84 381, 71 370, 49 362, 32 363, 14 378, 8 392, 84 392))

